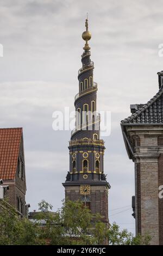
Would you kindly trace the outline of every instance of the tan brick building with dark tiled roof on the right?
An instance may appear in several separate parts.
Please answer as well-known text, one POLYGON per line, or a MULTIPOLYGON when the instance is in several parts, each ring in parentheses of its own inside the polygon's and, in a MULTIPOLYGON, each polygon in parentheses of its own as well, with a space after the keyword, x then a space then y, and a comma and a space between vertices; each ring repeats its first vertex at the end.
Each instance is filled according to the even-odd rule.
POLYGON ((163 245, 163 71, 158 77, 159 92, 146 104, 131 105, 132 114, 121 121, 126 150, 135 163, 136 234, 151 235, 152 245, 163 245))

